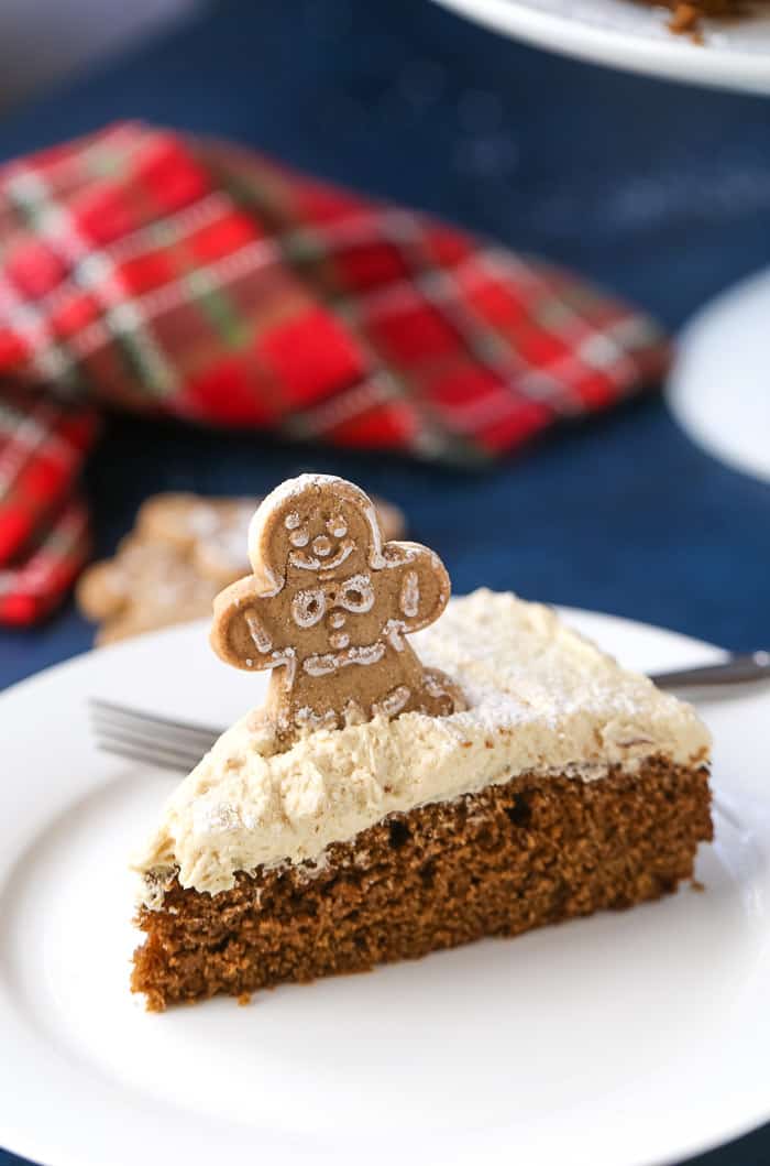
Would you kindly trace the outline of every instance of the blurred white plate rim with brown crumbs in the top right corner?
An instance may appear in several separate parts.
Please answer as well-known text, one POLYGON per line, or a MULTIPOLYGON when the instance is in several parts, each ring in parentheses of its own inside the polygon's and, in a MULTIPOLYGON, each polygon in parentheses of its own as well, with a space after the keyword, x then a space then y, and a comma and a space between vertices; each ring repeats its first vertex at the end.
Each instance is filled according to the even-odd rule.
POLYGON ((666 28, 643 0, 438 0, 543 49, 671 80, 770 93, 770 16, 706 21, 704 44, 666 28))

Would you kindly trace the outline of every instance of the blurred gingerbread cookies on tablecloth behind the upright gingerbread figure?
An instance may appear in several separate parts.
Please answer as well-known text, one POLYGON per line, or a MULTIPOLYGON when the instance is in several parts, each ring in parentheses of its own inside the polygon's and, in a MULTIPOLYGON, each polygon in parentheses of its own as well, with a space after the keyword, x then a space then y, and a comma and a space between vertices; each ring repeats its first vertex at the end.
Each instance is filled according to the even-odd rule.
MULTIPOLYGON (((163 493, 141 506, 113 559, 89 567, 82 612, 101 626, 98 644, 211 613, 217 591, 248 570, 248 527, 260 498, 163 493)), ((375 503, 383 538, 403 533, 402 512, 375 503)))

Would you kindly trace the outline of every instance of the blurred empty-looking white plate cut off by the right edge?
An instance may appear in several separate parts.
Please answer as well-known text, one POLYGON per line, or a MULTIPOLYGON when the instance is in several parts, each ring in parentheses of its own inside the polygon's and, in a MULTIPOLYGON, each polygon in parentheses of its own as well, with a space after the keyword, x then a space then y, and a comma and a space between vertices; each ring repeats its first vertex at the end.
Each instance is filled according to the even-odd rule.
POLYGON ((666 399, 714 457, 770 483, 770 269, 735 285, 687 324, 666 399))

